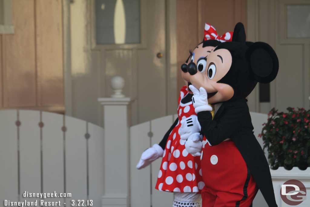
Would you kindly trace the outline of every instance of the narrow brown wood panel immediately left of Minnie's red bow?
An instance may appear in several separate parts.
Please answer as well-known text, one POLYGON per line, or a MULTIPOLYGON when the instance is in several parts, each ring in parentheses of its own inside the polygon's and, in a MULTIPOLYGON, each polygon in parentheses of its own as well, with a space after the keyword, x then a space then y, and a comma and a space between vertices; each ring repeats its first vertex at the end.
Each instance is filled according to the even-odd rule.
POLYGON ((185 63, 189 56, 189 49, 197 46, 200 40, 197 39, 197 0, 177 1, 177 91, 184 86, 184 80, 181 77, 181 65, 185 63))

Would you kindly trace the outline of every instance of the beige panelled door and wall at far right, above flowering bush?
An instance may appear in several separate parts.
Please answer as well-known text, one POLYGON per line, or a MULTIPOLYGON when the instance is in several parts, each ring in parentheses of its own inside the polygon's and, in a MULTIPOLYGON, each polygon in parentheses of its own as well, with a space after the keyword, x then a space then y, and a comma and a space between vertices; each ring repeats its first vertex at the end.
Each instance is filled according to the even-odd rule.
POLYGON ((252 94, 253 110, 309 108, 309 16, 307 0, 248 1, 248 39, 269 43, 279 58, 277 78, 252 94))

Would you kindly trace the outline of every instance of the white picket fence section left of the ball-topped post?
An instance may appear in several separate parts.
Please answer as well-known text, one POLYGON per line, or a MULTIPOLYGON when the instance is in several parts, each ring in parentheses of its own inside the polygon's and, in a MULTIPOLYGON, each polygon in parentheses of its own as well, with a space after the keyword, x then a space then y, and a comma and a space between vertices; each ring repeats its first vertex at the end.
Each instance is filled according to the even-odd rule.
POLYGON ((1 110, 0 133, 1 202, 37 200, 24 191, 56 191, 72 194, 59 198, 65 206, 87 199, 101 206, 103 128, 55 113, 1 110))

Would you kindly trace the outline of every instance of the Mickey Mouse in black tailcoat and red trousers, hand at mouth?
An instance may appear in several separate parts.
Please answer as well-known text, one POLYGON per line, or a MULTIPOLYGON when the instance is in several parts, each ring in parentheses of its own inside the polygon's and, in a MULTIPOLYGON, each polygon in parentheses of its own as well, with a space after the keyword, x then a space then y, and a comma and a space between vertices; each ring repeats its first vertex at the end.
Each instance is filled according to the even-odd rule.
MULTIPOLYGON (((257 82, 276 78, 277 55, 267 43, 246 42, 242 23, 235 26, 232 42, 221 43, 207 53, 202 70, 196 61, 187 67, 193 106, 206 137, 201 153, 206 183, 202 206, 250 206, 260 189, 268 206, 275 207, 270 169, 253 134, 246 97, 257 82), (208 104, 215 104, 213 119, 208 104)), ((197 133, 188 137, 192 153, 201 150, 199 139, 197 133)))

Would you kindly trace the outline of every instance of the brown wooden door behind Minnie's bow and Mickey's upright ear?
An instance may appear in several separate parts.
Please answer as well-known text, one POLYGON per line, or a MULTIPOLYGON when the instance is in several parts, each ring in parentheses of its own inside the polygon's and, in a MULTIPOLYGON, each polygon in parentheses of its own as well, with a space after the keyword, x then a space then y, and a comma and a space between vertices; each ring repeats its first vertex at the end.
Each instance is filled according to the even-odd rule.
POLYGON ((219 35, 233 31, 237 22, 247 27, 246 0, 178 0, 177 1, 177 88, 184 85, 180 67, 188 58, 189 49, 203 40, 205 23, 215 27, 219 35))

